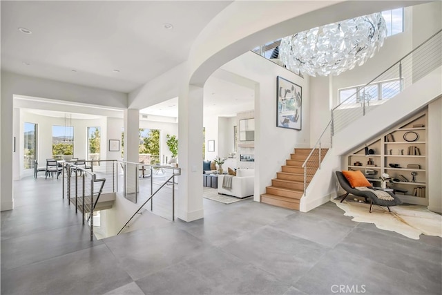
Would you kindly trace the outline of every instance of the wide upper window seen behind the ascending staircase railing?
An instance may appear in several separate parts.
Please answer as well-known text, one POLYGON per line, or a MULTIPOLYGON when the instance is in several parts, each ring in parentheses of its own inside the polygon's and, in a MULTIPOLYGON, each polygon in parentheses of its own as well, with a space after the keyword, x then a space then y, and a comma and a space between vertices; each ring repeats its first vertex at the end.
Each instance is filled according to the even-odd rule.
POLYGON ((372 83, 367 86, 353 86, 339 90, 339 103, 358 104, 362 100, 374 102, 376 100, 390 99, 400 92, 400 79, 372 83))

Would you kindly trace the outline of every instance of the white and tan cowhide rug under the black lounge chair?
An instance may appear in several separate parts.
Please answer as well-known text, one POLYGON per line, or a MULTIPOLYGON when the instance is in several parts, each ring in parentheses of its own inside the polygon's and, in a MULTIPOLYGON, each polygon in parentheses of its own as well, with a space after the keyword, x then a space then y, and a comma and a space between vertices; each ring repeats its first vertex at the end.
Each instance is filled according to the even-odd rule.
POLYGON ((442 237, 442 216, 429 211, 425 206, 402 205, 387 207, 373 205, 369 213, 369 204, 361 202, 340 202, 332 200, 345 216, 352 216, 353 221, 374 223, 378 229, 396 231, 396 233, 419 240, 421 234, 442 237))

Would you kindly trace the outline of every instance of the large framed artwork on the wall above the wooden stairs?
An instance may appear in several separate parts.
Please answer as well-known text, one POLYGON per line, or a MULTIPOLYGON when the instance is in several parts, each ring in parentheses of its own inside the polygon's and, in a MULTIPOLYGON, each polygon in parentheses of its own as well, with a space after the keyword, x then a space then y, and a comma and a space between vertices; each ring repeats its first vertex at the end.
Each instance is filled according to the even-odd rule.
POLYGON ((302 129, 302 87, 276 77, 276 126, 302 129))

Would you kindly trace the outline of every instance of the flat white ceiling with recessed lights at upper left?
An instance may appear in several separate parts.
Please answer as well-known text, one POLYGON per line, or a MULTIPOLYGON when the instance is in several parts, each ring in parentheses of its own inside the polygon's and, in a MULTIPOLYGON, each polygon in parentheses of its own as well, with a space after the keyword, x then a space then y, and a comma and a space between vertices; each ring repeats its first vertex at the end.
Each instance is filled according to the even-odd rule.
POLYGON ((230 3, 1 1, 1 68, 129 93, 185 61, 202 28, 230 3))

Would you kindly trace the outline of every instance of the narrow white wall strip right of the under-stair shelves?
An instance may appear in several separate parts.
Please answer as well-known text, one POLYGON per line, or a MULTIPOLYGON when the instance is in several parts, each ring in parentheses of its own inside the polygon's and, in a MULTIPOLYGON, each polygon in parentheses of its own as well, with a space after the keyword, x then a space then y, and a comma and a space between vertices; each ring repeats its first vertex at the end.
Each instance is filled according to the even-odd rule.
POLYGON ((442 213, 442 98, 428 105, 428 209, 442 213))

